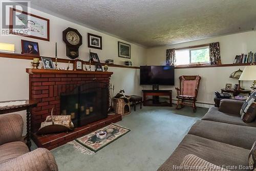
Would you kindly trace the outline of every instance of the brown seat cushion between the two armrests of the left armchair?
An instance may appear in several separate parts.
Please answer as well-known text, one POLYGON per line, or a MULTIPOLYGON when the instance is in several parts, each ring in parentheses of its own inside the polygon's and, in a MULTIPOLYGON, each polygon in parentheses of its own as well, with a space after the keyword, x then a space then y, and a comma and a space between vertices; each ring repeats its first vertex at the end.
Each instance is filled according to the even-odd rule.
POLYGON ((0 145, 0 163, 14 159, 29 152, 24 142, 15 141, 0 145))

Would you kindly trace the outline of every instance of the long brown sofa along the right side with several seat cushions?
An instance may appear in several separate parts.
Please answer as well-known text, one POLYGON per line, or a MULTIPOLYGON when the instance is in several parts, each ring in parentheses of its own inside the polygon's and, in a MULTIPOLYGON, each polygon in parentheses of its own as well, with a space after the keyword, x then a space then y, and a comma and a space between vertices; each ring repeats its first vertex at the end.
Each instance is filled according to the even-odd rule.
POLYGON ((256 140, 256 121, 242 121, 242 104, 242 101, 224 99, 220 108, 210 108, 191 127, 158 171, 179 170, 181 162, 188 154, 229 170, 248 170, 249 151, 256 140))

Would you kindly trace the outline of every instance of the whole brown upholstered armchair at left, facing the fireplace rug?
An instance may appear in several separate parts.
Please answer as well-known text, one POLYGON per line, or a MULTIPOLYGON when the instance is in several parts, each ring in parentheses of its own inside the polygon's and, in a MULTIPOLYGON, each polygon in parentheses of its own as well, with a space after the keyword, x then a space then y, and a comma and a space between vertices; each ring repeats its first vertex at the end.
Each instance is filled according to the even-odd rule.
POLYGON ((29 152, 22 142, 23 119, 18 114, 0 116, 0 170, 58 170, 48 149, 29 152))

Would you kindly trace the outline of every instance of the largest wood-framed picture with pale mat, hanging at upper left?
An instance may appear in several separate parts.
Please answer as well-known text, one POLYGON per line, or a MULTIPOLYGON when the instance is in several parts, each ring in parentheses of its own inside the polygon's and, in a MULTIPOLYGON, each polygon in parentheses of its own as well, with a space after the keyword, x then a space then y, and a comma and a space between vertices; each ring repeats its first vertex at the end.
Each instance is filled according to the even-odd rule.
POLYGON ((10 33, 50 41, 50 20, 10 8, 10 33))

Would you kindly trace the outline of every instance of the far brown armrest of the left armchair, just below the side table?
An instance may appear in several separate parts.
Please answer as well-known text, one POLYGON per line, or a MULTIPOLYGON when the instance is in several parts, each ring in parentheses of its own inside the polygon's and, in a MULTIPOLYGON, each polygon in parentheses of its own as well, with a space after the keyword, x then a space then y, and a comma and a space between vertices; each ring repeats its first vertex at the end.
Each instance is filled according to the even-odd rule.
POLYGON ((18 114, 0 115, 0 145, 22 140, 23 119, 18 114))

